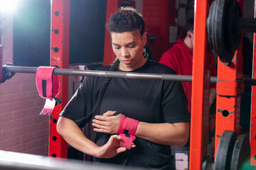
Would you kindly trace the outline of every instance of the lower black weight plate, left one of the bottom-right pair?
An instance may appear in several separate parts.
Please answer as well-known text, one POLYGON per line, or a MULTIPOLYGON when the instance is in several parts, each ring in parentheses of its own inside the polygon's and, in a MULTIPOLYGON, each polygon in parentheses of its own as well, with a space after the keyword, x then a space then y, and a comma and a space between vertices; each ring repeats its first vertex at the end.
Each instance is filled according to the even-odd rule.
POLYGON ((225 130, 220 137, 218 143, 217 154, 215 158, 215 170, 230 169, 231 157, 235 140, 238 137, 238 132, 225 130))

